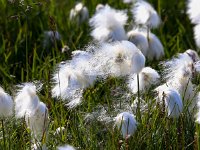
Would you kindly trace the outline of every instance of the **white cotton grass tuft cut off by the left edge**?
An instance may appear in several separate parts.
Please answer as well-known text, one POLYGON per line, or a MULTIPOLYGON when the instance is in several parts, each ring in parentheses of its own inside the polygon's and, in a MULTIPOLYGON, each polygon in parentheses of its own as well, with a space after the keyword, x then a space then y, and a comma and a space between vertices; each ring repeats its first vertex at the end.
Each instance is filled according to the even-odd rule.
POLYGON ((9 117, 13 114, 13 100, 3 88, 0 87, 0 118, 9 117))

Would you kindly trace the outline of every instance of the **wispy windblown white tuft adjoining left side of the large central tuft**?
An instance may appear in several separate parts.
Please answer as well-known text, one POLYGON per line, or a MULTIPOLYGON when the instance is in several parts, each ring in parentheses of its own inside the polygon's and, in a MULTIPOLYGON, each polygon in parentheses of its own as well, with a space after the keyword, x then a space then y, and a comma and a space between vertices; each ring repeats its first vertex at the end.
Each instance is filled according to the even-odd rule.
POLYGON ((68 100, 67 106, 70 108, 81 103, 83 89, 92 85, 96 79, 95 73, 86 65, 89 56, 80 51, 73 55, 71 61, 59 65, 53 76, 55 85, 52 88, 52 96, 68 100))

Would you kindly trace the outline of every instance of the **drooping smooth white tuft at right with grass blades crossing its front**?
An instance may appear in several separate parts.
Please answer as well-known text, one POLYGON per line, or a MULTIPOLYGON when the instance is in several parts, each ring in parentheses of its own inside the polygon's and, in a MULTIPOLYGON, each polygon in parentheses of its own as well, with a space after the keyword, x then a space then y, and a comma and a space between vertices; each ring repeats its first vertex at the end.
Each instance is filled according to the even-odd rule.
POLYGON ((168 117, 177 118, 183 111, 183 103, 180 94, 173 88, 168 88, 166 86, 160 86, 156 88, 158 92, 157 101, 163 105, 167 110, 168 117))

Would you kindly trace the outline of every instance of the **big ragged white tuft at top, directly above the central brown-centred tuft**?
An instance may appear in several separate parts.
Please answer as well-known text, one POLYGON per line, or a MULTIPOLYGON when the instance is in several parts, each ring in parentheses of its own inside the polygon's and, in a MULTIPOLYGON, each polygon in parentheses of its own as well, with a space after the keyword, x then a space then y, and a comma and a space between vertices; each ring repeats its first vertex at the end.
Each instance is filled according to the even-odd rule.
POLYGON ((90 19, 91 36, 100 42, 126 40, 124 25, 128 17, 125 12, 106 5, 90 19))

